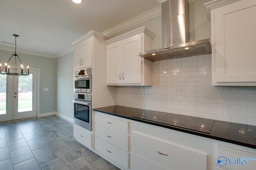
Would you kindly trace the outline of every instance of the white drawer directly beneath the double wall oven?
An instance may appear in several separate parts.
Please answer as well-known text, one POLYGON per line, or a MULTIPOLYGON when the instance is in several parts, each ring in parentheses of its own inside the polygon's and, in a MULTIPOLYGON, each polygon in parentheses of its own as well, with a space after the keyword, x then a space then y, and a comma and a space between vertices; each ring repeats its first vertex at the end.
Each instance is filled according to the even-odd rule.
POLYGON ((92 148, 92 132, 74 124, 74 138, 86 147, 92 148))

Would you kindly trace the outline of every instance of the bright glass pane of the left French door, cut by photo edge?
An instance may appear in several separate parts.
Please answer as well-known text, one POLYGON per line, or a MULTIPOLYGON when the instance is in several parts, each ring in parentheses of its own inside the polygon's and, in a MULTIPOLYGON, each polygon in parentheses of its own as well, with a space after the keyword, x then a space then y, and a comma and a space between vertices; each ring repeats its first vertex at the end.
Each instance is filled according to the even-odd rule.
POLYGON ((0 74, 0 115, 6 114, 6 75, 0 74))

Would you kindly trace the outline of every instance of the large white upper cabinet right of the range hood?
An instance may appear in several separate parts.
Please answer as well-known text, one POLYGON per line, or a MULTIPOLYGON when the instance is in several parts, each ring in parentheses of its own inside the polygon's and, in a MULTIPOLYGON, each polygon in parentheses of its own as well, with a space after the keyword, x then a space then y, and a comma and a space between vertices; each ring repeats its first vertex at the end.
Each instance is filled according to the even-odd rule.
POLYGON ((212 85, 256 86, 256 1, 205 4, 212 23, 212 85))

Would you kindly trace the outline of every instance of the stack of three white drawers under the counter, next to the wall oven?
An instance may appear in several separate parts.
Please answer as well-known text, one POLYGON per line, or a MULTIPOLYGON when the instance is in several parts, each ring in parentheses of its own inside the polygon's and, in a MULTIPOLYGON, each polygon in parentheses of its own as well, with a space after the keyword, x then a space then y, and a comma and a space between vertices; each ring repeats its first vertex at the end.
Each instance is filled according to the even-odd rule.
POLYGON ((126 119, 94 113, 94 149, 103 158, 127 170, 130 168, 129 122, 126 119))

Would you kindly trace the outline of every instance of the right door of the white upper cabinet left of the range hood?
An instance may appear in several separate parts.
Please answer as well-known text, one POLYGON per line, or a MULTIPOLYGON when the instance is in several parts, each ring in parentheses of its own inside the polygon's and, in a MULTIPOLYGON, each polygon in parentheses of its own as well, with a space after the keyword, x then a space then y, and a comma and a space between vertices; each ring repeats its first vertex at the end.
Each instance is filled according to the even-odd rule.
POLYGON ((123 40, 122 47, 122 83, 141 83, 142 58, 138 53, 142 51, 141 35, 123 40))

